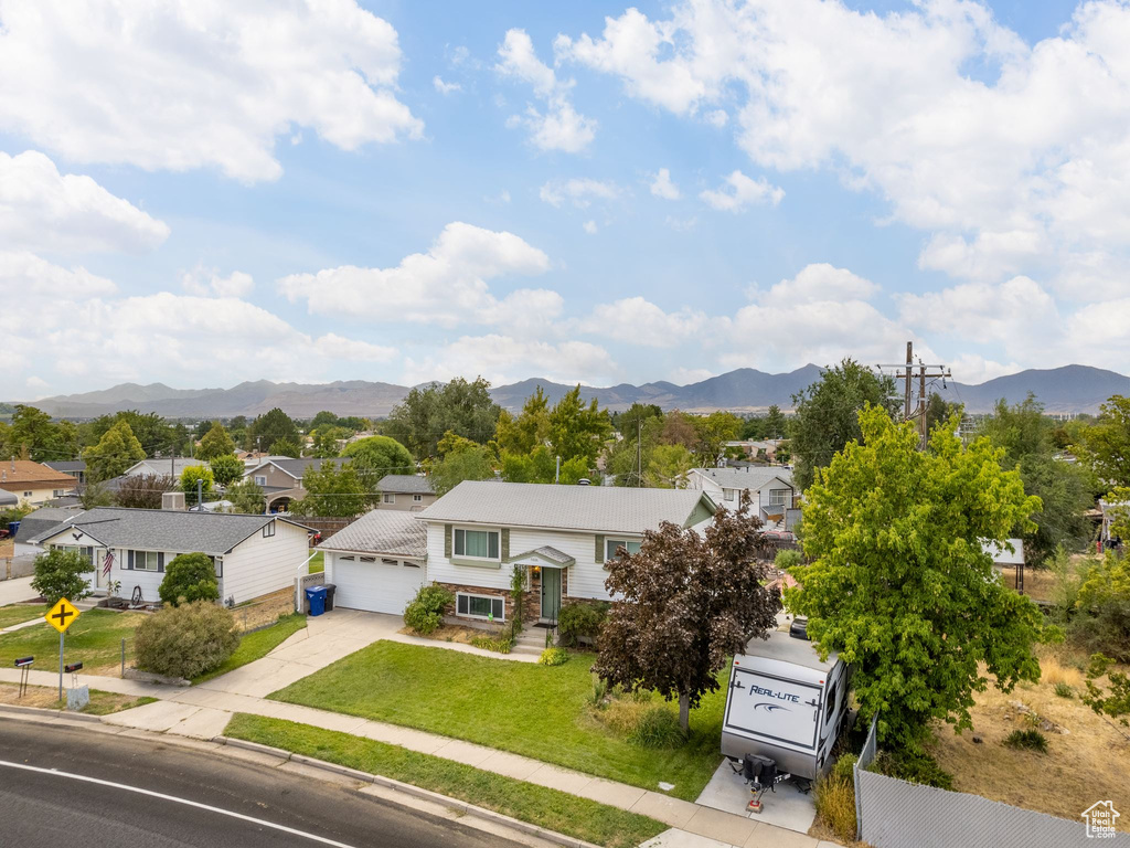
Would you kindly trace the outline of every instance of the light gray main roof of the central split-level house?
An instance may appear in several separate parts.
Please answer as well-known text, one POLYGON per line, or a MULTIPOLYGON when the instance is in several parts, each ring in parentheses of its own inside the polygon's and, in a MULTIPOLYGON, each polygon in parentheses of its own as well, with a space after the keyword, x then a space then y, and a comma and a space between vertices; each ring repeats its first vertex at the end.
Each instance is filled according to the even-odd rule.
POLYGON ((685 525, 704 499, 695 490, 464 481, 415 514, 425 521, 642 534, 662 521, 685 525))

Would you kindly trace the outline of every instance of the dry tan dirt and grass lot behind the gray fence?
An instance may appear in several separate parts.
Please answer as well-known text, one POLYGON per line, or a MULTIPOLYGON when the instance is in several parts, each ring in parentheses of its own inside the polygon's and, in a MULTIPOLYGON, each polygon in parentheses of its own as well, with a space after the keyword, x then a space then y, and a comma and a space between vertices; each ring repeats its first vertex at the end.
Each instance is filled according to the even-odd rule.
MULTIPOLYGON (((1041 665, 1038 684, 975 695, 972 732, 938 729, 932 752, 954 776, 954 789, 1072 821, 1099 799, 1130 808, 1130 728, 1080 702, 1083 674, 1062 651, 1049 652, 1041 665), (1074 696, 1057 695, 1057 683, 1071 686, 1074 696), (1041 727, 1048 728, 1046 754, 1003 744, 1014 730, 1041 727)), ((1130 832, 1130 817, 1118 828, 1130 832)))

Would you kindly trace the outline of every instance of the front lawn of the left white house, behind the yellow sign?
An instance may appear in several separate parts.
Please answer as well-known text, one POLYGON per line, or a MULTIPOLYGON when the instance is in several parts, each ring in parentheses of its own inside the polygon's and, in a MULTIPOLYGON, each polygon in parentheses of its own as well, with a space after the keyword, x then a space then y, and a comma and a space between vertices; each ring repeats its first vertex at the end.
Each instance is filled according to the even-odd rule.
MULTIPOLYGON (((89 609, 67 630, 66 660, 81 663, 87 673, 114 673, 121 664, 122 639, 125 639, 125 661, 133 657, 133 630, 144 613, 112 613, 89 609)), ((0 635, 0 667, 11 667, 17 657, 35 657, 38 669, 58 668, 59 633, 44 622, 43 626, 26 628, 0 635)))

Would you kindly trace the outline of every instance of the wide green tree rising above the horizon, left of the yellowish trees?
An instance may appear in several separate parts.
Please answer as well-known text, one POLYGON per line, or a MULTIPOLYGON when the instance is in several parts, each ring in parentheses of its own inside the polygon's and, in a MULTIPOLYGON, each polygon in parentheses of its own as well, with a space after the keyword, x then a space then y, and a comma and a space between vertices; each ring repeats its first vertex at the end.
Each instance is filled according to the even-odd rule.
POLYGON ((382 432, 405 444, 412 456, 436 456, 436 445, 451 431, 485 444, 495 432, 498 405, 490 399, 490 383, 455 378, 449 383, 416 387, 392 410, 382 432))

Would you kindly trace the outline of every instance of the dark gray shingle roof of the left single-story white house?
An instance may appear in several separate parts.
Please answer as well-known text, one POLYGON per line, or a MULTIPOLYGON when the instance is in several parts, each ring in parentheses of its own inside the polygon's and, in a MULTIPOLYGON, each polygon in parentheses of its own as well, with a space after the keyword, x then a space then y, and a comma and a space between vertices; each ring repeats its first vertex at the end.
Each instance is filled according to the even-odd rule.
MULTIPOLYGON (((68 527, 75 527, 110 547, 137 547, 177 553, 200 551, 219 555, 226 554, 271 521, 287 521, 287 519, 278 516, 233 516, 99 507, 49 528, 38 534, 34 540, 42 542, 68 527)), ((287 522, 303 527, 295 521, 287 522)))

